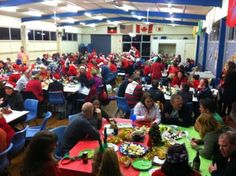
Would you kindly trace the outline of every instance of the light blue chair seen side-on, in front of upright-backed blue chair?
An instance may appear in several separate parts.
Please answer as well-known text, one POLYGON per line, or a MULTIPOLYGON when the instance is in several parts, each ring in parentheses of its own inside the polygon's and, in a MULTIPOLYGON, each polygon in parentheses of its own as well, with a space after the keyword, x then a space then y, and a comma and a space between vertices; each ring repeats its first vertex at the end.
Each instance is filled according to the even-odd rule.
POLYGON ((48 111, 43 119, 43 122, 40 126, 34 126, 34 127, 29 127, 26 130, 26 140, 31 139, 32 137, 34 137, 34 135, 36 133, 38 133, 39 131, 43 131, 46 129, 46 125, 48 122, 48 119, 52 117, 52 113, 50 111, 48 111))

